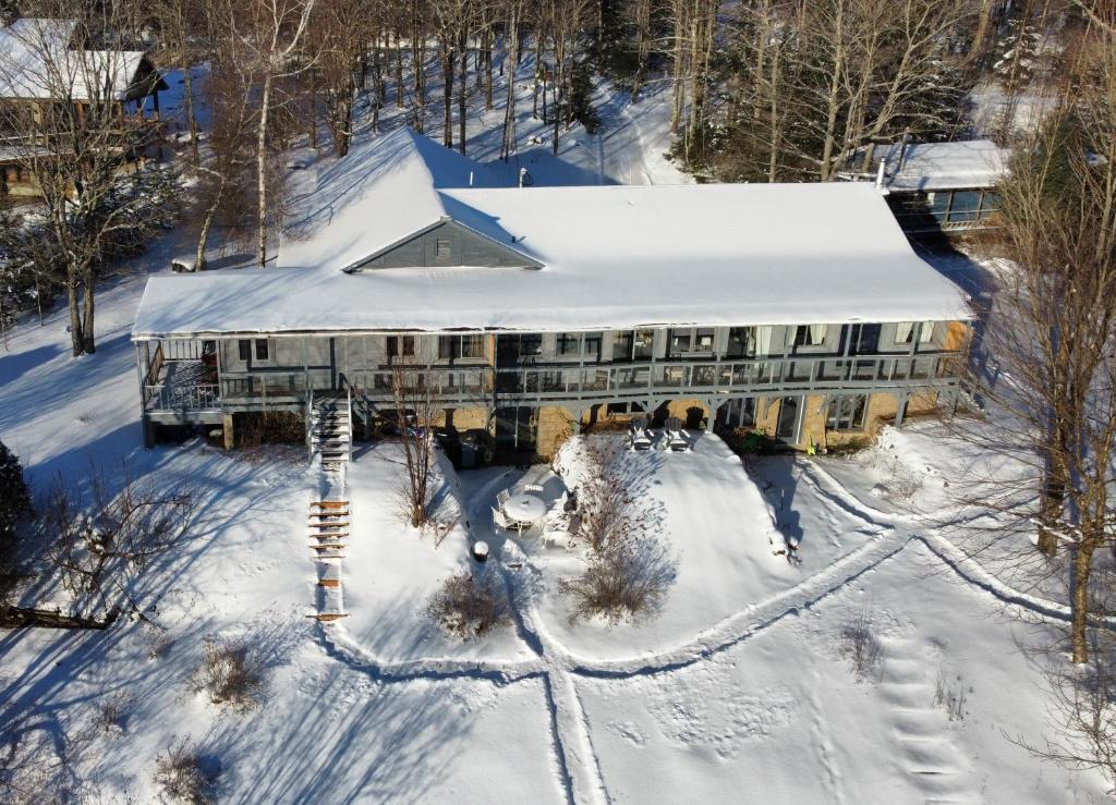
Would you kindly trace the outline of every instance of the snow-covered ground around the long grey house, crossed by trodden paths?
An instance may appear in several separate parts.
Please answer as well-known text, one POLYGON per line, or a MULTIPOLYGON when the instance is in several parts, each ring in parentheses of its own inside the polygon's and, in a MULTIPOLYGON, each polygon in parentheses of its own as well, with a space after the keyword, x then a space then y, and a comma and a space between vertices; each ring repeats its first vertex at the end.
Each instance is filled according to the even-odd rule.
MULTIPOLYGON (((646 169, 658 181, 656 114, 653 99, 638 119, 606 111, 619 123, 602 135, 604 161, 597 140, 571 137, 564 153, 579 168, 540 151, 531 169, 570 182, 646 169)), ((491 135, 477 136, 481 151, 491 135)), ((468 562, 470 536, 491 528, 496 491, 523 473, 448 472, 446 511, 469 525, 435 547, 392 515, 397 456, 375 446, 347 471, 349 618, 307 618, 306 512, 320 478, 302 454, 141 447, 128 330, 146 273, 181 245, 170 237, 105 288, 96 355, 68 357, 61 311, 15 328, 0 352, 0 440, 37 491, 57 474, 80 483, 89 462, 108 472, 124 462, 132 477, 189 486, 205 504, 204 527, 152 571, 160 592, 142 605, 158 627, 125 615, 106 631, 0 633, 0 733, 7 743, 20 731, 40 758, 64 755, 80 798, 157 801, 155 757, 177 736, 222 768, 222 799, 246 803, 1104 799, 1098 774, 1012 743, 1041 741, 1045 660, 1028 648, 1049 641, 1064 610, 1018 594, 908 505, 945 500, 935 495, 955 456, 931 423, 845 459, 745 466, 711 436, 690 454, 633 456, 654 462, 648 505, 662 506, 661 535, 679 559, 662 618, 571 627, 551 585, 576 557, 503 545, 493 561, 535 592, 512 627, 465 646, 431 628, 425 601, 468 562), (800 539, 800 566, 771 555, 761 508, 800 539), (858 678, 847 633, 866 622, 881 652, 858 678), (206 636, 262 653, 261 707, 235 714, 191 692, 206 636), (964 697, 954 720, 935 704, 940 676, 964 697), (123 728, 105 730, 99 711, 115 696, 123 728)), ((35 591, 36 603, 57 600, 35 591)))

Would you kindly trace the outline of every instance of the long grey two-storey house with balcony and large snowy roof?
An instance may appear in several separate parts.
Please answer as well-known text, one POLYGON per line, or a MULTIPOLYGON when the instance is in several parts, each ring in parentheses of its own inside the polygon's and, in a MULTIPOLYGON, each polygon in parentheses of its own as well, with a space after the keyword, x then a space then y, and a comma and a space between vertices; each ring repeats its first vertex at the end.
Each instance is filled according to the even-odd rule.
POLYGON ((148 280, 147 442, 204 423, 232 446, 311 395, 362 433, 400 365, 451 434, 539 456, 637 411, 805 448, 956 399, 969 308, 872 184, 491 184, 397 129, 325 163, 276 268, 148 280))

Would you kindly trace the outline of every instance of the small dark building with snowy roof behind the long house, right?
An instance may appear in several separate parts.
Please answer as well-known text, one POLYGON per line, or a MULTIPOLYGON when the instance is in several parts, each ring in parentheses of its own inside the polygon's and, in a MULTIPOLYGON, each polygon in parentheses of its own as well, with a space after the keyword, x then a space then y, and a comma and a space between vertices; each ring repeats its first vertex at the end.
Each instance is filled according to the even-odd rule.
POLYGON ((873 169, 904 232, 971 232, 994 225, 995 185, 1009 155, 990 139, 896 143, 873 161, 873 169))

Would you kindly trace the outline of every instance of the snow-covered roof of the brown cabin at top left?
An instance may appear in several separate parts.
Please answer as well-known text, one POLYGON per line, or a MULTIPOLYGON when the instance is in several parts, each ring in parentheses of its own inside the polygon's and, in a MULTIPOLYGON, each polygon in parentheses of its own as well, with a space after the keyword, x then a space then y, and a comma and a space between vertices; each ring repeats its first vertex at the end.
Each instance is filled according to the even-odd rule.
POLYGON ((75 20, 21 18, 0 28, 0 98, 127 98, 144 60, 138 50, 75 50, 75 20), (110 83, 90 90, 90 81, 110 83))

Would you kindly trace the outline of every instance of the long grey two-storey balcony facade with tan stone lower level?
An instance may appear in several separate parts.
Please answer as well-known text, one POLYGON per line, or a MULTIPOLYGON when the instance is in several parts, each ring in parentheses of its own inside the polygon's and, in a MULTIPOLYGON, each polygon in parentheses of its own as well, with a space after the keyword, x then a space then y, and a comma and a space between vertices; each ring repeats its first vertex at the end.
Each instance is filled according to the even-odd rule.
MULTIPOLYGON (((241 339, 230 338, 218 342, 221 374, 218 405, 199 409, 201 414, 193 420, 210 421, 204 417, 262 409, 300 413, 306 405, 309 384, 320 392, 345 388, 347 381, 354 389, 354 399, 359 400, 355 405, 360 410, 389 408, 389 369, 397 359, 388 357, 387 339, 398 338, 402 347, 404 338, 413 338, 413 356, 405 362, 423 372, 427 378, 425 382, 439 384, 445 395, 443 405, 452 410, 452 417, 442 417, 441 426, 452 426, 459 431, 489 429, 494 410, 527 408, 532 411, 528 427, 536 436, 537 452, 543 456, 552 453, 571 423, 588 426, 607 419, 622 427, 629 415, 609 415, 607 406, 610 402, 638 402, 652 418, 662 418, 665 411, 665 416, 677 417, 687 427, 703 427, 714 415, 711 404, 716 406, 740 398, 756 400, 754 427, 772 437, 778 430, 781 400, 797 399, 795 436, 783 442, 805 449, 811 440, 835 445, 874 436, 882 421, 895 417, 898 398, 910 398, 906 407, 910 414, 933 408, 937 392, 926 392, 926 389, 930 386, 941 388, 943 380, 945 386, 955 382, 955 358, 943 356, 943 352, 962 349, 969 331, 968 322, 936 322, 931 340, 918 341, 915 330, 914 345, 895 343, 896 324, 881 324, 877 348, 872 349, 862 341, 855 360, 846 360, 848 326, 829 324, 822 343, 795 347, 797 327, 772 327, 770 348, 760 350, 758 356, 743 358, 725 357, 730 347, 728 327, 711 328, 712 351, 671 357, 672 329, 644 328, 652 331, 652 355, 638 360, 624 356, 613 360, 613 347, 625 331, 600 332, 599 353, 595 348, 586 353, 585 333, 576 333, 579 347, 571 355, 559 355, 560 333, 538 333, 540 353, 521 357, 518 361, 499 359, 501 336, 492 332, 482 333, 483 349, 477 358, 445 359, 439 357, 441 337, 435 333, 264 337, 262 340, 267 341, 268 349, 262 360, 257 358, 256 348, 260 339, 243 339, 249 342, 249 356, 241 360, 241 339), (781 361, 785 355, 789 362, 781 361), (865 363, 867 371, 862 370, 865 363), (504 379, 510 382, 506 385, 504 379), (926 394, 920 397, 922 392, 926 394), (843 394, 868 397, 865 425, 856 431, 826 431, 826 400, 843 394)), ((164 343, 187 341, 179 339, 164 343)), ((594 333, 590 343, 595 341, 594 333)), ((693 338, 690 343, 691 347, 695 345, 693 338)), ((144 358, 150 350, 150 347, 137 349, 140 374, 145 378, 160 376, 158 367, 152 367, 152 360, 144 358)), ((177 359, 189 357, 177 356, 177 359)), ((165 405, 147 406, 144 417, 153 421, 191 420, 183 418, 183 414, 189 411, 165 405)))

